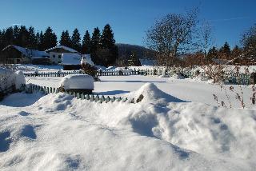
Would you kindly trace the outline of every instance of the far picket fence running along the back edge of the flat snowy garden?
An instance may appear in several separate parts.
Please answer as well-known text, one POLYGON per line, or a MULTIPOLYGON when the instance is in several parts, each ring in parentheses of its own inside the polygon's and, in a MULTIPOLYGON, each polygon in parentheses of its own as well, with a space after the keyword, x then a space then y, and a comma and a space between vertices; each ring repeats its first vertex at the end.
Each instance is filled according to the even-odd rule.
MULTIPOLYGON (((190 70, 178 70, 179 73, 183 74, 186 78, 194 78, 194 72, 190 70)), ((24 74, 25 77, 65 77, 69 74, 84 74, 79 71, 70 71, 70 72, 47 72, 47 73, 26 73, 24 74)), ((201 72, 202 76, 206 74, 201 72)), ((129 75, 169 75, 171 76, 171 72, 166 72, 166 70, 113 70, 113 71, 98 71, 98 76, 129 76, 129 75)), ((250 85, 250 74, 227 74, 226 82, 231 84, 238 84, 238 85, 250 85)))

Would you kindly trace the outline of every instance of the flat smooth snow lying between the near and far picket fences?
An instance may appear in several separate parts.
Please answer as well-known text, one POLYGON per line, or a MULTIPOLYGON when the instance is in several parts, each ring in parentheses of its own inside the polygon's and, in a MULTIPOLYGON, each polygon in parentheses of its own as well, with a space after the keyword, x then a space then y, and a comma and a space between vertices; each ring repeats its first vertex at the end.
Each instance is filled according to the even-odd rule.
MULTIPOLYGON (((58 87, 62 78, 26 78, 28 83, 36 85, 58 87)), ((146 82, 154 83, 162 91, 178 97, 184 101, 202 102, 208 105, 217 105, 214 101, 213 93, 218 96, 218 101, 225 101, 229 105, 224 90, 220 89, 219 85, 212 85, 206 82, 195 82, 191 79, 170 79, 145 76, 106 76, 100 78, 102 82, 94 82, 94 93, 103 95, 118 95, 129 93, 139 89, 146 82)), ((234 89, 240 92, 238 85, 233 85, 234 89)), ((230 92, 230 85, 226 85, 227 93, 230 96, 230 101, 233 107, 241 107, 238 100, 235 99, 235 94, 230 92)), ((252 91, 250 87, 242 85, 242 90, 245 97, 245 102, 250 106, 250 96, 252 91)))

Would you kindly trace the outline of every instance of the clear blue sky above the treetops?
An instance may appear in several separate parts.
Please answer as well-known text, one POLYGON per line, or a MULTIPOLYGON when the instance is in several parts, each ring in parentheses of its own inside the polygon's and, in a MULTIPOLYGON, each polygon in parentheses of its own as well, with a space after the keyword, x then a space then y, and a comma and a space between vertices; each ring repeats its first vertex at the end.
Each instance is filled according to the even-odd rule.
POLYGON ((145 32, 156 19, 199 7, 199 18, 214 28, 214 44, 234 46, 256 23, 255 6, 255 0, 8 0, 1 2, 0 29, 14 24, 36 30, 51 26, 59 37, 62 30, 71 33, 77 27, 83 35, 110 23, 116 42, 143 46, 145 32))

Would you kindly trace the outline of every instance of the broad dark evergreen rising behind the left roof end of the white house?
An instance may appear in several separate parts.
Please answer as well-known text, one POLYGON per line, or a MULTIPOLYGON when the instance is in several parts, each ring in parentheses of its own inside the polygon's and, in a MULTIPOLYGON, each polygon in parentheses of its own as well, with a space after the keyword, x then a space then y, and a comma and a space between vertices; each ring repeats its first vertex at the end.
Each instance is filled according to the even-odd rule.
POLYGON ((42 37, 42 50, 47 50, 54 46, 57 46, 57 36, 49 26, 42 37))

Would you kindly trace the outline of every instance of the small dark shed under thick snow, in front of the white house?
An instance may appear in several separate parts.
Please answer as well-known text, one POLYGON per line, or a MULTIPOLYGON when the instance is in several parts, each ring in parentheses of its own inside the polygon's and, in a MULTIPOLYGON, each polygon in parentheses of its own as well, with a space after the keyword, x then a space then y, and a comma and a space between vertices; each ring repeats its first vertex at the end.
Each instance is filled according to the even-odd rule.
POLYGON ((82 69, 81 62, 87 62, 90 66, 94 66, 91 61, 90 54, 62 54, 63 70, 80 70, 82 69))

